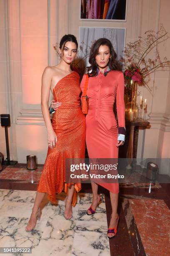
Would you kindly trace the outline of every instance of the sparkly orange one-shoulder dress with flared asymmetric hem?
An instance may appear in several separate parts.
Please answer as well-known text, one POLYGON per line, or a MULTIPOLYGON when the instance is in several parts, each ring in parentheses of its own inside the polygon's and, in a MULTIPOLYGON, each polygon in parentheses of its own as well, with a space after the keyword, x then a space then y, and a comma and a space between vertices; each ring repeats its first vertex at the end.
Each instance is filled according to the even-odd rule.
MULTIPOLYGON (((54 87, 54 100, 62 102, 52 118, 52 127, 57 135, 55 148, 48 148, 47 158, 37 186, 37 192, 46 192, 48 200, 56 203, 55 193, 67 189, 65 183, 65 159, 85 157, 85 116, 80 108, 80 77, 73 71, 63 77, 54 87)), ((81 184, 75 184, 72 205, 77 202, 76 191, 81 184)))

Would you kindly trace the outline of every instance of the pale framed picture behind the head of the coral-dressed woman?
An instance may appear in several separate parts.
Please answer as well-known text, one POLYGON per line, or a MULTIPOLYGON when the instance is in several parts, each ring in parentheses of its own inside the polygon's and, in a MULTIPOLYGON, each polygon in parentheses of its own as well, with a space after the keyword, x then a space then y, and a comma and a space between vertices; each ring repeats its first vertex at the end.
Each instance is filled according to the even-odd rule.
POLYGON ((88 59, 92 43, 99 38, 107 38, 117 54, 117 60, 124 57, 126 28, 80 27, 80 59, 84 60, 84 67, 90 66, 88 59))

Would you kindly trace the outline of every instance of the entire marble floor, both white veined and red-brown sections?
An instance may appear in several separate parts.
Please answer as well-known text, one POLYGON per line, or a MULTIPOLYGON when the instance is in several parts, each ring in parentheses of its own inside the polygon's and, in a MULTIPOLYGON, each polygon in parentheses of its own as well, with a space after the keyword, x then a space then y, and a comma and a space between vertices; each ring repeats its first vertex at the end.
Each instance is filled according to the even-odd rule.
POLYGON ((169 184, 120 184, 120 222, 117 236, 110 240, 109 194, 100 188, 102 202, 95 215, 87 215, 90 184, 82 184, 71 220, 64 218, 65 193, 57 194, 56 205, 43 200, 41 219, 32 232, 26 232, 41 171, 42 166, 28 171, 18 164, 0 172, 0 247, 30 247, 32 256, 170 255, 169 184))

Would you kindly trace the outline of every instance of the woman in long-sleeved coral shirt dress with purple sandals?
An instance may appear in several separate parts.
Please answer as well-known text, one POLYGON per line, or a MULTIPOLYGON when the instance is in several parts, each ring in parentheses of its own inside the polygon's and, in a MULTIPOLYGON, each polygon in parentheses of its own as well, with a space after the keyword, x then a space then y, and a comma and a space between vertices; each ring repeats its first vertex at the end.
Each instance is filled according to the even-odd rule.
MULTIPOLYGON (((111 42, 100 38, 90 51, 90 67, 87 67, 89 110, 86 115, 86 144, 90 159, 118 158, 118 147, 125 141, 125 103, 124 76, 116 61, 116 53, 111 42), (116 99, 117 121, 113 112, 116 99)), ((84 92, 86 74, 80 87, 84 92)), ((95 213, 100 195, 97 195, 98 184, 91 181, 93 200, 87 214, 95 213)), ((107 232, 109 238, 117 233, 117 214, 119 183, 99 183, 110 191, 112 215, 107 232)))

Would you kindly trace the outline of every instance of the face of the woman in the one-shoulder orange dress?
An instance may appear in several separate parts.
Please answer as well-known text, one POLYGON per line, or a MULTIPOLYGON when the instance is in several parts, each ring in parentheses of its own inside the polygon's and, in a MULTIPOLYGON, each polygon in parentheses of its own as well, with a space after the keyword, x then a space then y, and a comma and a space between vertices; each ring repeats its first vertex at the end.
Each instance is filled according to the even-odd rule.
POLYGON ((67 42, 63 48, 60 49, 60 54, 62 60, 64 60, 67 64, 70 64, 77 54, 77 46, 73 42, 67 42))

